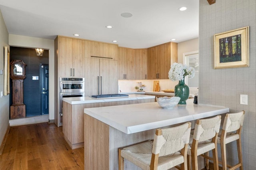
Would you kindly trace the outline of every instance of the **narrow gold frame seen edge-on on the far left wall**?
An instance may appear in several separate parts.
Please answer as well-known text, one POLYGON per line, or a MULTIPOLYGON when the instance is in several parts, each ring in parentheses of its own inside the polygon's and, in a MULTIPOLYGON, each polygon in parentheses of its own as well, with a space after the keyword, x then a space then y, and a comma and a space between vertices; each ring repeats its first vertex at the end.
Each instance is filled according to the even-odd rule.
POLYGON ((4 96, 10 94, 10 51, 4 47, 4 96))

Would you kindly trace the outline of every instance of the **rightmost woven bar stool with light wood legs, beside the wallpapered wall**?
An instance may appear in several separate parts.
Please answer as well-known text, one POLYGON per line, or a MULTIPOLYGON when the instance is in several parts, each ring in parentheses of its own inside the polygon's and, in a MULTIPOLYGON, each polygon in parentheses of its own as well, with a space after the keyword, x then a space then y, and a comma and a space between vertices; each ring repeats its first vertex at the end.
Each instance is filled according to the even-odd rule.
MULTIPOLYGON (((242 161, 242 141, 241 141, 241 132, 242 126, 244 123, 244 111, 238 113, 227 113, 223 122, 222 131, 218 136, 218 143, 220 144, 222 170, 234 170, 240 168, 243 170, 243 161, 242 161), (236 140, 237 151, 238 151, 238 164, 231 166, 227 164, 226 158, 226 144, 236 140)), ((205 156, 206 160, 206 169, 209 169, 209 159, 212 158, 205 156)))

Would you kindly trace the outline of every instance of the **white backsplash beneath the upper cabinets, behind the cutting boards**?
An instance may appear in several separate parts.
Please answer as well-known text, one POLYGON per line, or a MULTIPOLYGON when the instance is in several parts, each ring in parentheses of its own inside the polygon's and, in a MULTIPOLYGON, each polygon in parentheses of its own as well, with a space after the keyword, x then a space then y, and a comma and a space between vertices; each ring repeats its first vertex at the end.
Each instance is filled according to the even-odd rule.
MULTIPOLYGON (((140 87, 139 82, 142 82, 141 84, 145 85, 142 87, 144 91, 153 91, 154 81, 155 80, 118 80, 118 93, 138 91, 135 89, 135 86, 140 87)), ((174 89, 175 85, 178 84, 178 81, 171 81, 169 79, 157 79, 157 81, 159 81, 160 91, 174 89)), ((195 93, 198 93, 198 88, 190 88, 190 94, 194 95, 195 93)))

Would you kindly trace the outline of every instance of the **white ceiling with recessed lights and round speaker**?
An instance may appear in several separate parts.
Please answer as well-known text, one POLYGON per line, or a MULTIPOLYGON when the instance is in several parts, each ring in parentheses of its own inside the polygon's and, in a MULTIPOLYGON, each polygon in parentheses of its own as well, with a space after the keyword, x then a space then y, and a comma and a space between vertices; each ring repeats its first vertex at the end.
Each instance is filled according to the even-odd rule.
POLYGON ((198 38, 199 0, 0 0, 0 10, 9 34, 22 36, 79 34, 130 48, 198 38))

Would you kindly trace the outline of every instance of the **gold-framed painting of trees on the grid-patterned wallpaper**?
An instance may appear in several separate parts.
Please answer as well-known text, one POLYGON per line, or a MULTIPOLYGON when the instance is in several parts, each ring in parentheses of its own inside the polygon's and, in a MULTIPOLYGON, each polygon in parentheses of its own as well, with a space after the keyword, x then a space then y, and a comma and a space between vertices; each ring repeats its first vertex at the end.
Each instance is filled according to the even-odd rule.
POLYGON ((214 35, 214 69, 249 67, 249 26, 214 35))

